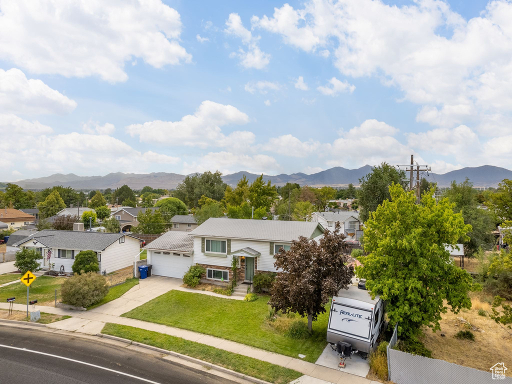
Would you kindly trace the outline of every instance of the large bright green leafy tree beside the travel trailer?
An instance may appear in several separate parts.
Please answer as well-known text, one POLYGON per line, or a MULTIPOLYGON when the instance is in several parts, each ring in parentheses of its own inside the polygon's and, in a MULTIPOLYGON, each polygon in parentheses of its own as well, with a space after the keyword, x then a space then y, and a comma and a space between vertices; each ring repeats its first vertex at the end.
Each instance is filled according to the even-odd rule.
POLYGON ((390 324, 398 324, 404 339, 418 340, 423 326, 440 329, 448 306, 454 313, 471 308, 471 275, 455 266, 445 245, 454 246, 471 231, 447 199, 436 202, 434 189, 421 204, 400 185, 389 187, 382 202, 365 223, 366 256, 356 274, 366 279, 372 296, 387 302, 390 324))

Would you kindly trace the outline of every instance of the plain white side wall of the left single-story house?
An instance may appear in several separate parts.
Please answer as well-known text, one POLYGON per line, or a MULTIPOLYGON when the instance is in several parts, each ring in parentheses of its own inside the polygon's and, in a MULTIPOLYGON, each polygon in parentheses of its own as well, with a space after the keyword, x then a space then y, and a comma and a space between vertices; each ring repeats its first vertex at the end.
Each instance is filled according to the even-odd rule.
POLYGON ((133 266, 139 252, 140 245, 137 239, 124 236, 124 243, 119 243, 116 240, 101 252, 100 272, 106 270, 106 273, 110 273, 133 266))

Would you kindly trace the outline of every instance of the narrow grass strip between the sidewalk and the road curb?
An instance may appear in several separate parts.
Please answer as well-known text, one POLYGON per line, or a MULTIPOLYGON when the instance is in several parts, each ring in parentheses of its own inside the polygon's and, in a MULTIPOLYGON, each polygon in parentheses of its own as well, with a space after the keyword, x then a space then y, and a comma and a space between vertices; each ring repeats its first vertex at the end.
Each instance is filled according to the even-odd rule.
POLYGON ((266 361, 141 328, 107 323, 101 332, 195 357, 276 384, 285 384, 302 376, 302 373, 266 361))

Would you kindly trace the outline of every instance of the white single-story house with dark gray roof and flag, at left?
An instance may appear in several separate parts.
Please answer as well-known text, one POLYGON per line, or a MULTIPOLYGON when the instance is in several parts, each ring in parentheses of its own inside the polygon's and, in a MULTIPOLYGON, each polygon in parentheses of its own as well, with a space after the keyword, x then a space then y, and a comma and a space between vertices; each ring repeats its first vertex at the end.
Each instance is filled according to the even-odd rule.
POLYGON ((132 267, 140 252, 140 240, 125 233, 100 233, 81 231, 59 231, 45 229, 16 242, 19 248, 36 249, 41 254, 41 266, 48 269, 54 263, 55 270, 64 267, 71 272, 75 255, 83 250, 92 250, 98 256, 101 273, 111 273, 132 267), (47 260, 48 252, 50 260, 47 260))

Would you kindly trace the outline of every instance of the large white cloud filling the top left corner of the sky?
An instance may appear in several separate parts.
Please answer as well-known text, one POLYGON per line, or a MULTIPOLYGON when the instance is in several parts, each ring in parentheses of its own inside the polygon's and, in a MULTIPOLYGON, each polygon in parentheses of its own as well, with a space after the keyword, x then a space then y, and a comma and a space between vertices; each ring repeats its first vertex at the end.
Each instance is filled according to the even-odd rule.
POLYGON ((155 68, 191 60, 180 14, 160 0, 2 0, 0 8, 0 56, 31 73, 116 82, 134 57, 155 68))

